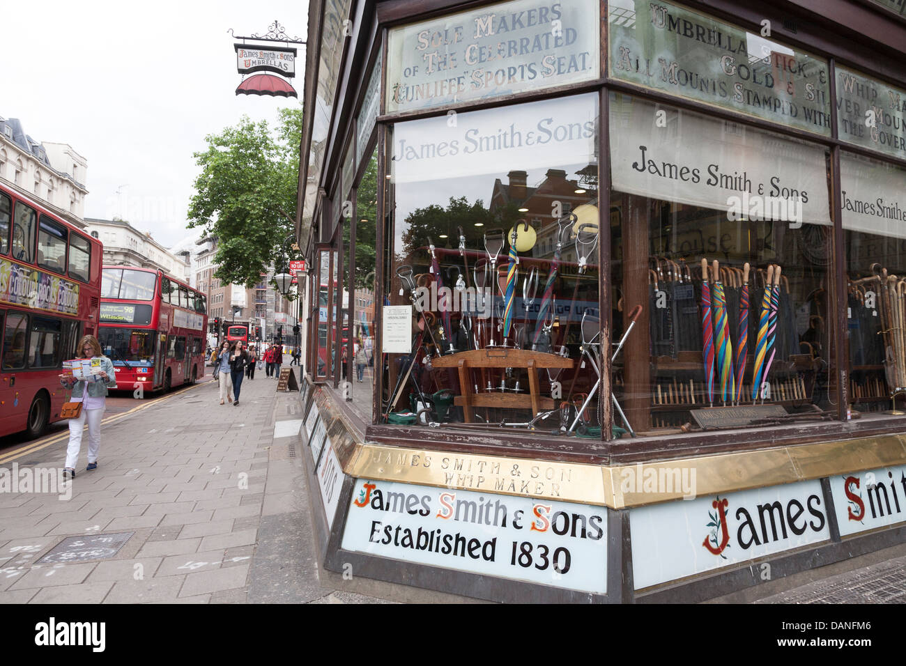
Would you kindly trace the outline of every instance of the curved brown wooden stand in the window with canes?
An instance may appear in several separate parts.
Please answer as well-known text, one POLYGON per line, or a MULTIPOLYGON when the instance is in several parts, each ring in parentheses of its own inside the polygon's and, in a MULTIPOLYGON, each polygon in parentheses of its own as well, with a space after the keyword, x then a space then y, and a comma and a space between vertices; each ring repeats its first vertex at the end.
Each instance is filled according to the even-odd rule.
MULTIPOLYGON (((472 423, 474 416, 472 409, 475 407, 498 407, 508 410, 532 410, 532 415, 537 416, 541 410, 553 410, 555 407, 552 398, 543 398, 538 383, 538 371, 547 368, 572 368, 573 360, 566 359, 553 353, 532 352, 527 349, 506 349, 504 347, 489 347, 476 349, 469 352, 458 352, 431 361, 435 368, 457 368, 459 372, 459 387, 462 395, 458 395, 453 403, 463 408, 463 417, 467 423, 472 423), (528 370, 528 395, 518 393, 487 392, 476 393, 472 391, 470 371, 479 369, 505 370, 506 368, 525 368, 528 370)), ((484 384, 482 384, 484 385, 484 384)))

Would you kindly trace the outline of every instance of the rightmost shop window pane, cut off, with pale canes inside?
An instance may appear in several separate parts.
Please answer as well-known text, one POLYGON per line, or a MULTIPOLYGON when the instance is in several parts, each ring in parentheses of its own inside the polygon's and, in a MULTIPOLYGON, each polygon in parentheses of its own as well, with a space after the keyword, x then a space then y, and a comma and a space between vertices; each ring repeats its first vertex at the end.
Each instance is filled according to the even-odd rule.
POLYGON ((883 418, 906 388, 906 169, 842 152, 849 397, 883 418))

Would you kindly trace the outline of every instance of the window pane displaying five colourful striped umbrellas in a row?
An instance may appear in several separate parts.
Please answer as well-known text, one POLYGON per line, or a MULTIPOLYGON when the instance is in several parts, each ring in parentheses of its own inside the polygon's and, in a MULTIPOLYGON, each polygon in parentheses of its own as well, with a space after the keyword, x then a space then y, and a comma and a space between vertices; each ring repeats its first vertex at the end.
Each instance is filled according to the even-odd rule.
POLYGON ((631 428, 833 418, 826 150, 616 93, 610 123, 612 384, 631 428))

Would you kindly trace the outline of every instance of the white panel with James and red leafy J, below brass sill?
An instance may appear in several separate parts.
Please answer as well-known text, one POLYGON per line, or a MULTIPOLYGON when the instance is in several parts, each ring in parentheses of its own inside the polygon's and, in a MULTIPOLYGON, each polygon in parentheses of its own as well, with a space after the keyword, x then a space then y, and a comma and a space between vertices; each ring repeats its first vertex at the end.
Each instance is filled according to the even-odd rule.
POLYGON ((830 539, 821 482, 630 510, 635 589, 830 539))

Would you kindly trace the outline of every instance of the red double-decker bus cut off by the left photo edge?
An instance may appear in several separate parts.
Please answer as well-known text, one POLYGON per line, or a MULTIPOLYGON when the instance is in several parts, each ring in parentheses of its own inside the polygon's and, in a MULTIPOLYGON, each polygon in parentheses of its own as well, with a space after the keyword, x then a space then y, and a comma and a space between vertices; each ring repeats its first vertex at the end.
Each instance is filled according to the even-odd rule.
POLYGON ((0 436, 60 420, 57 375, 97 333, 100 241, 0 185, 0 436))

